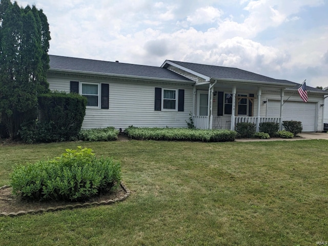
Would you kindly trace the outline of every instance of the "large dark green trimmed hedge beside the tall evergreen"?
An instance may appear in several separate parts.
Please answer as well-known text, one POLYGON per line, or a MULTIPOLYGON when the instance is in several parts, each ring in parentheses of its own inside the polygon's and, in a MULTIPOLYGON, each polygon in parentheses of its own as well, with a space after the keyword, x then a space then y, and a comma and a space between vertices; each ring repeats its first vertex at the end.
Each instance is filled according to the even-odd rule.
POLYGON ((23 141, 57 142, 76 140, 86 114, 87 99, 76 93, 51 92, 38 96, 40 117, 24 122, 19 130, 23 141))

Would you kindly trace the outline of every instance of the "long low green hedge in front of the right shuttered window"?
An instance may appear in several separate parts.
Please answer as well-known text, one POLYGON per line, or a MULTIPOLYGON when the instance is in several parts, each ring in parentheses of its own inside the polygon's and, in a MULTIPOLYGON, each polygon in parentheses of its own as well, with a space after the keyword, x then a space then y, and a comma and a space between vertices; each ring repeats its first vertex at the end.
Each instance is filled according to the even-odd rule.
POLYGON ((187 128, 136 128, 125 129, 128 137, 138 140, 178 140, 224 142, 234 141, 237 133, 230 130, 196 130, 187 128))

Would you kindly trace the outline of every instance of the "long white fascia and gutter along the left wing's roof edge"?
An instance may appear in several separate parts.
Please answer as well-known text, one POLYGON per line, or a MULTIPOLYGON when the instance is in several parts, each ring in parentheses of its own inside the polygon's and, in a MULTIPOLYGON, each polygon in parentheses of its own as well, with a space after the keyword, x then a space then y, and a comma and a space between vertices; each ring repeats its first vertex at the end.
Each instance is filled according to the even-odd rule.
POLYGON ((87 71, 68 70, 68 69, 49 69, 49 72, 83 74, 83 75, 101 76, 101 77, 129 78, 129 79, 137 79, 137 80, 152 80, 152 81, 191 84, 191 85, 195 84, 195 81, 193 80, 188 81, 188 80, 180 80, 180 79, 154 78, 154 77, 145 77, 145 76, 125 75, 125 74, 97 73, 97 72, 87 72, 87 71))

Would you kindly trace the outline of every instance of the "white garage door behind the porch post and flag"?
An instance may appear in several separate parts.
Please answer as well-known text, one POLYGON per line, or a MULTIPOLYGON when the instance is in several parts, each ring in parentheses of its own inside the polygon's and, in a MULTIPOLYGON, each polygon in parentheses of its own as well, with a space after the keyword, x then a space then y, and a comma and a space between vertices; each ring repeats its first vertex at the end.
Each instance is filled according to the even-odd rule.
MULTIPOLYGON (((268 100, 267 117, 279 117, 280 101, 268 100)), ((302 122, 303 132, 314 132, 316 124, 316 103, 286 101, 282 110, 283 120, 302 122)))

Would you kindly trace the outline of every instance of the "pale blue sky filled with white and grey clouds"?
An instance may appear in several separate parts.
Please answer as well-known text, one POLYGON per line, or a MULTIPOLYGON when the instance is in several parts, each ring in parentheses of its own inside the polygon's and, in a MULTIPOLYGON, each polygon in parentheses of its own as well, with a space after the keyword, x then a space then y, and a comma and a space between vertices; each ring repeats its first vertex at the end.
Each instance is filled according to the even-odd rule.
POLYGON ((18 0, 48 17, 49 54, 237 67, 328 87, 328 0, 18 0))

